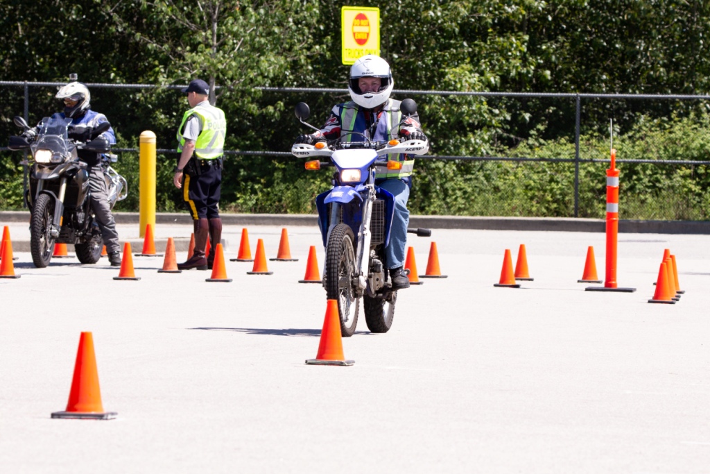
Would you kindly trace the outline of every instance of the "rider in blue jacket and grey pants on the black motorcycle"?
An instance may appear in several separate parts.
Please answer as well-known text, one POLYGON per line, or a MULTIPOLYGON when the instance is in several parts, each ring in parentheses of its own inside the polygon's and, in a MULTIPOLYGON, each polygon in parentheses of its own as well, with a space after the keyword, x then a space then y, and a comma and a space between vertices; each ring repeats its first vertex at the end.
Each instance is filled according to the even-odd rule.
MULTIPOLYGON (((108 122, 104 114, 99 114, 91 109, 91 94, 89 88, 82 82, 70 82, 60 87, 55 95, 64 104, 64 111, 54 114, 62 119, 72 119, 69 126, 69 138, 86 143, 92 140, 92 131, 102 122, 108 122)), ((40 124, 41 125, 41 124, 40 124)), ((23 136, 31 140, 38 133, 40 125, 35 129, 26 131, 23 136)), ((105 141, 105 148, 116 143, 114 129, 109 128, 94 140, 105 141)), ((97 147, 100 148, 100 147, 97 147)), ((87 163, 89 173, 89 189, 91 189, 91 206, 96 215, 96 220, 101 230, 101 236, 106 245, 111 266, 121 266, 121 247, 119 234, 116 232, 116 222, 109 206, 109 189, 104 179, 104 170, 101 165, 101 153, 89 150, 79 150, 79 159, 87 163)))

